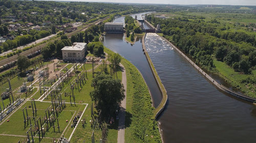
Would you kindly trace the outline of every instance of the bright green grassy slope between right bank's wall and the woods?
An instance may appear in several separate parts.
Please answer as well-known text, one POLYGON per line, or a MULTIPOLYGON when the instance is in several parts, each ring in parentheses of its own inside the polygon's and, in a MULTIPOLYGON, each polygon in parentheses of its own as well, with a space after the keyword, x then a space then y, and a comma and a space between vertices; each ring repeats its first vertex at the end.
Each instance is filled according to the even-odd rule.
POLYGON ((246 80, 249 77, 255 77, 256 70, 252 71, 252 75, 242 74, 240 72, 234 71, 231 67, 226 65, 223 62, 214 60, 214 65, 219 71, 219 75, 226 79, 233 87, 241 90, 245 95, 256 98, 256 87, 253 84, 242 83, 243 80, 246 80))

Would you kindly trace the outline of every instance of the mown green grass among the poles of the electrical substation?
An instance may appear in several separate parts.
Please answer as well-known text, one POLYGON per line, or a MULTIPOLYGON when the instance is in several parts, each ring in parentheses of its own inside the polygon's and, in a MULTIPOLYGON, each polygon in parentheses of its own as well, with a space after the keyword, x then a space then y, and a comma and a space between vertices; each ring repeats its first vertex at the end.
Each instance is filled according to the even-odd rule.
MULTIPOLYGON (((96 65, 95 65, 96 66, 96 65)), ((70 69, 72 67, 72 64, 68 65, 68 68, 70 69)), ((66 108, 59 114, 58 120, 59 120, 59 126, 60 126, 60 132, 57 132, 57 128, 55 128, 56 132, 53 131, 53 127, 50 128, 48 132, 46 132, 45 136, 47 138, 43 138, 40 142, 52 142, 53 137, 59 138, 61 134, 66 138, 69 138, 71 135, 72 131, 74 128, 71 128, 71 123, 72 122, 66 122, 66 120, 71 121, 73 120, 74 116, 77 115, 78 112, 81 112, 84 110, 85 107, 87 107, 86 111, 84 112, 83 117, 81 117, 83 120, 86 120, 86 124, 84 127, 82 127, 82 124, 79 123, 77 126, 77 129, 75 130, 71 141, 72 142, 91 142, 91 134, 94 130, 95 134, 95 141, 99 142, 99 139, 101 138, 101 129, 99 128, 92 128, 90 124, 90 120, 92 121, 91 117, 91 97, 90 97, 90 92, 93 90, 91 87, 91 81, 93 79, 92 77, 92 65, 87 64, 86 69, 88 70, 87 75, 88 75, 88 80, 87 82, 82 86, 81 91, 79 92, 78 90, 74 90, 74 95, 75 95, 75 100, 76 100, 76 106, 74 104, 66 104, 66 108), (81 103, 89 103, 80 105, 81 103), (64 131, 65 130, 65 131, 64 131)), ((80 68, 78 68, 79 71, 82 71, 80 68)), ((110 70, 110 69, 108 69, 110 70)), ((100 71, 100 66, 97 68, 95 67, 95 72, 100 71)), ((84 70, 82 72, 85 72, 84 70)), ((96 75, 95 75, 96 76, 96 75)), ((75 76, 71 78, 71 83, 74 81, 75 76)), ((121 80, 121 72, 118 72, 118 79, 121 80)), ((15 79, 14 79, 15 80, 15 79)), ((62 88, 61 92, 71 92, 70 90, 70 85, 66 84, 64 88, 62 88)), ((42 94, 42 93, 41 93, 42 94)), ((33 92, 28 93, 28 97, 31 95, 34 95, 32 99, 38 99, 41 96, 39 90, 37 91, 37 88, 33 89, 33 92)), ((22 96, 25 96, 24 94, 22 96)), ((66 100, 66 102, 70 102, 69 97, 65 97, 62 94, 62 100, 66 100)), ((7 101, 7 100, 6 100, 7 101)), ((49 103, 51 101, 49 98, 45 99, 44 102, 39 102, 36 101, 36 107, 37 107, 37 118, 41 116, 43 119, 45 116, 45 110, 46 108, 51 104, 49 103)), ((9 99, 8 99, 9 102, 9 99)), ((73 100, 72 100, 73 102, 73 100)), ((13 115, 7 117, 9 119, 9 122, 3 122, 2 125, 0 125, 0 134, 7 134, 7 135, 14 135, 12 137, 10 136, 5 136, 5 135, 0 135, 0 140, 5 140, 7 142, 17 142, 19 139, 24 139, 26 138, 26 131, 30 128, 30 126, 24 127, 24 117, 23 117, 23 112, 22 108, 27 106, 28 110, 28 116, 32 117, 32 108, 29 108, 29 105, 31 105, 30 101, 26 101, 24 105, 22 105, 19 109, 17 109, 13 115), (15 128, 12 127, 12 125, 17 124, 15 128), (16 135, 16 136, 15 136, 16 135), (19 135, 19 136, 17 136, 19 135), (20 136, 21 135, 21 136, 20 136)), ((95 111, 95 116, 97 117, 97 110, 94 107, 95 111)), ((25 112, 26 116, 26 112, 25 112)), ((32 127, 34 126, 33 120, 32 122, 32 127)), ((57 126, 57 122, 55 122, 55 126, 57 126)), ((117 140, 117 127, 118 127, 118 121, 115 122, 114 125, 108 125, 109 126, 109 140, 110 142, 115 142, 117 140)), ((34 138, 35 142, 39 141, 38 137, 34 138)), ((1 141, 0 141, 1 142, 1 141)))

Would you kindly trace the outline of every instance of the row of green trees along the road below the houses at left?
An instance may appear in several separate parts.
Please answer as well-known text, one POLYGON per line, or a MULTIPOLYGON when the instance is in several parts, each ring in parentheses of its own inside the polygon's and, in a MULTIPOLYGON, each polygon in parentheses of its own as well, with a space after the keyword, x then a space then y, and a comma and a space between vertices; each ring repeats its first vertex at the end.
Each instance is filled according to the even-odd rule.
POLYGON ((23 35, 23 36, 17 36, 14 38, 14 40, 6 40, 6 42, 2 43, 2 45, 0 46, 0 51, 2 52, 2 51, 14 49, 18 46, 28 44, 37 39, 47 37, 51 33, 49 31, 33 31, 32 30, 32 32, 30 32, 30 34, 23 35))

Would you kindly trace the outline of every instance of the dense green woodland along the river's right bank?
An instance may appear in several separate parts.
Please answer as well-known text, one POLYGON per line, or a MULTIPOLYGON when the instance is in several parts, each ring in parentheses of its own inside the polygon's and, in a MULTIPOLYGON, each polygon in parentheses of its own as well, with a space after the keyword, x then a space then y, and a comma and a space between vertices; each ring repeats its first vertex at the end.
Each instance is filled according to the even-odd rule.
POLYGON ((148 15, 147 20, 161 25, 162 33, 203 68, 214 68, 213 57, 234 70, 249 74, 256 65, 256 43, 253 35, 227 32, 217 23, 202 20, 160 19, 148 15))

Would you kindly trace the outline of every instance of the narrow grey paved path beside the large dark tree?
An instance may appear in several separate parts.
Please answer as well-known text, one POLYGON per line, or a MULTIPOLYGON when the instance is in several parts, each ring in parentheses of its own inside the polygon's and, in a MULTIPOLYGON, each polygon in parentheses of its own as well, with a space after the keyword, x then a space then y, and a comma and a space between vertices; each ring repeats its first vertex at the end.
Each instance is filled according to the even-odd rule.
POLYGON ((125 129, 125 109, 126 109, 126 72, 124 66, 120 64, 122 68, 122 83, 124 87, 124 99, 121 102, 121 107, 119 111, 119 127, 118 127, 118 135, 117 135, 117 143, 124 143, 124 129, 125 129))

